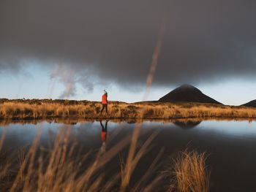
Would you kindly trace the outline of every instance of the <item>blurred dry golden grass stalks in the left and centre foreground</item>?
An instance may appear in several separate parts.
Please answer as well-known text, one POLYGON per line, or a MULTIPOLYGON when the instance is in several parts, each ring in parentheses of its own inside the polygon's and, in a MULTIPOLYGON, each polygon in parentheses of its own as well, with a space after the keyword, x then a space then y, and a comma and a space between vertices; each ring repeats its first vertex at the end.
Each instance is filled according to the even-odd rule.
MULTIPOLYGON (((42 150, 39 147, 39 132, 26 153, 24 150, 19 151, 18 169, 15 170, 16 174, 12 181, 7 183, 8 186, 4 186, 4 191, 144 191, 153 189, 159 182, 161 176, 156 176, 156 180, 151 183, 146 182, 145 177, 143 183, 129 185, 129 179, 138 161, 146 153, 148 145, 157 133, 152 134, 138 149, 137 140, 140 134, 138 127, 135 128, 132 136, 127 136, 118 145, 107 151, 99 150, 91 155, 91 153, 78 152, 78 143, 70 140, 70 129, 69 127, 62 128, 53 146, 50 146, 48 150, 42 150), (105 166, 129 143, 129 154, 124 161, 124 172, 105 175, 105 166)), ((1 141, 3 139, 4 137, 1 141)), ((154 164, 158 160, 159 158, 154 161, 154 164)), ((10 166, 0 169, 0 176, 8 174, 8 169, 10 166)), ((0 183, 2 183, 1 177, 0 183)))

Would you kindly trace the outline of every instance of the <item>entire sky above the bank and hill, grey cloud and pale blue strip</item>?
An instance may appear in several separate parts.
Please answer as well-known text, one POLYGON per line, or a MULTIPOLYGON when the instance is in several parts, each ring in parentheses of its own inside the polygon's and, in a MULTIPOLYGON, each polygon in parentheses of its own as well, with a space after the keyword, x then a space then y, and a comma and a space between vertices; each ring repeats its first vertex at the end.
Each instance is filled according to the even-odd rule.
POLYGON ((148 99, 191 83, 242 104, 256 99, 255 10, 255 0, 1 0, 0 96, 98 100, 107 88, 140 101, 165 20, 148 99))

